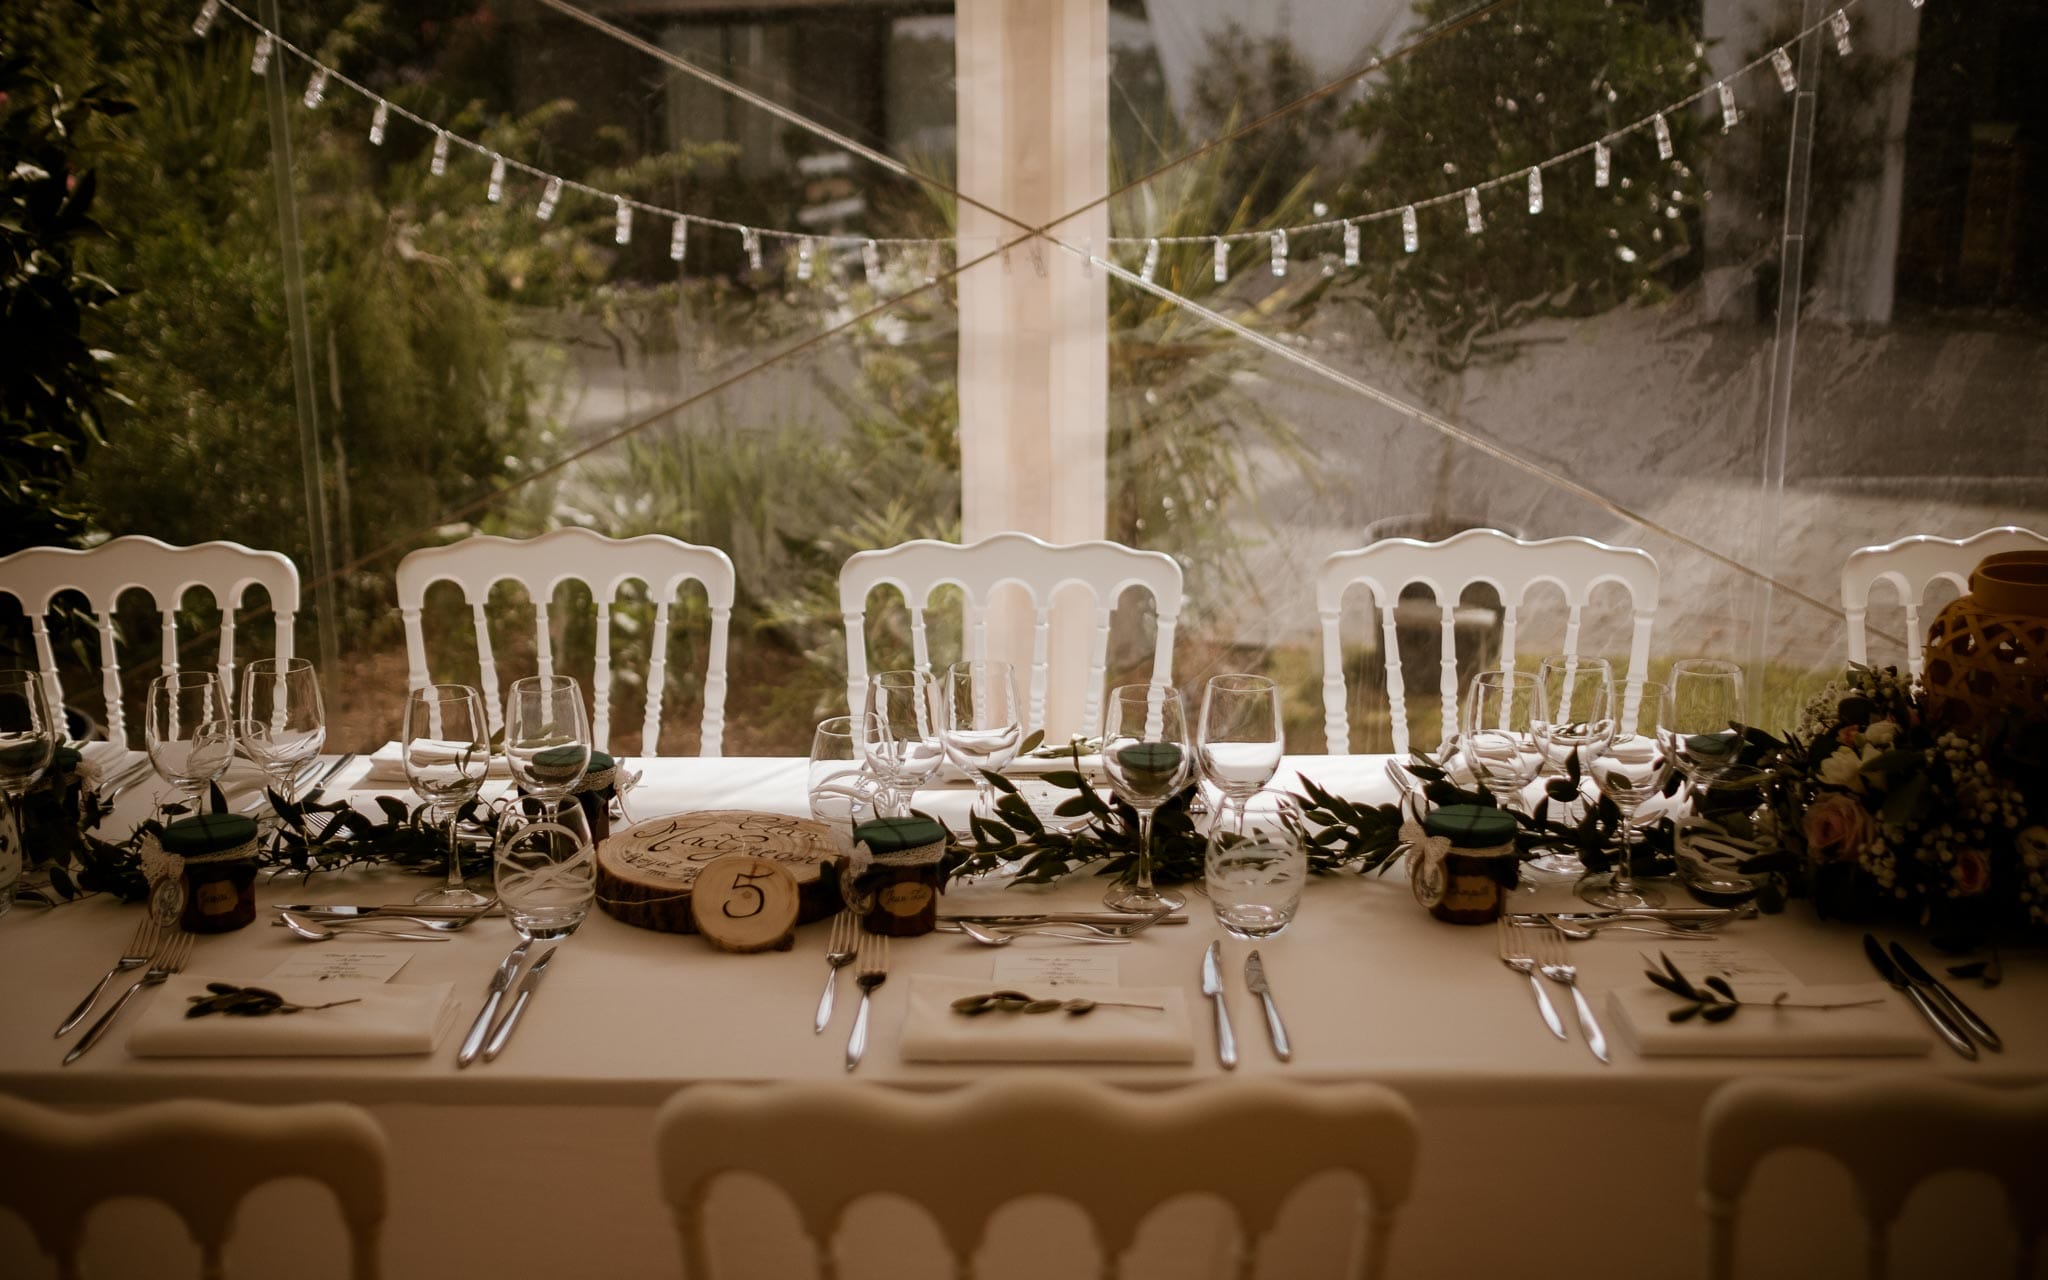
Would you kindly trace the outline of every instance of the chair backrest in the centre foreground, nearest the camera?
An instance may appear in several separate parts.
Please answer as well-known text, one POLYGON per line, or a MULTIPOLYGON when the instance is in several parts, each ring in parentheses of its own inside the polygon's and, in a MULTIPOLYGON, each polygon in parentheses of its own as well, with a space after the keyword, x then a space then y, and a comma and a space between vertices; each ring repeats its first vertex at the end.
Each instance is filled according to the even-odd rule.
MULTIPOLYGON (((1077 1204, 1094 1223, 1102 1276, 1116 1276, 1145 1217, 1192 1192, 1235 1208, 1237 1274, 1249 1278, 1288 1194, 1325 1169, 1350 1169, 1366 1184, 1368 1235, 1352 1274, 1378 1276, 1417 1141, 1415 1112, 1382 1085, 1284 1079, 1161 1094, 1038 1073, 995 1075, 948 1094, 860 1081, 702 1083, 655 1116, 662 1194, 690 1280, 713 1274, 702 1206, 725 1174, 758 1174, 782 1188, 825 1280, 836 1274, 831 1237, 868 1194, 924 1206, 965 1280, 989 1214, 1020 1196, 1077 1204), (1257 1141, 1219 1143, 1219 1133, 1257 1141), (963 1151, 999 1151, 1001 1159, 963 1176, 963 1151)), ((1352 1239, 1358 1223, 1346 1227, 1352 1239)))

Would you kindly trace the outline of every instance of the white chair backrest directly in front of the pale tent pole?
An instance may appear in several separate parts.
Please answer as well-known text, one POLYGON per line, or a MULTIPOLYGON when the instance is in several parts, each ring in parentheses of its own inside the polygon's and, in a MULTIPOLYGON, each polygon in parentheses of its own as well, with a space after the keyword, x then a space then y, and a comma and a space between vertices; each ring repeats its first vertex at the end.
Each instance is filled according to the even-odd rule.
POLYGON ((1030 723, 1024 731, 1044 727, 1044 690, 1053 629, 1053 596, 1067 584, 1081 584, 1096 596, 1096 635, 1087 649, 1087 702, 1081 711, 1081 733, 1094 735, 1102 719, 1102 680, 1110 657, 1110 612, 1128 586, 1143 586, 1159 610, 1159 631, 1153 641, 1153 682, 1174 680, 1174 627, 1180 621, 1180 563, 1163 551, 1137 551, 1122 543, 1047 543, 1028 532, 997 532, 979 543, 938 543, 920 539, 881 551, 860 551, 840 567, 840 612, 846 618, 846 707, 858 715, 866 702, 868 592, 891 584, 903 592, 909 608, 911 659, 920 672, 932 672, 932 651, 926 643, 924 614, 932 592, 956 586, 967 594, 967 653, 989 655, 987 608, 995 588, 1016 584, 1032 600, 1030 649, 1030 723))

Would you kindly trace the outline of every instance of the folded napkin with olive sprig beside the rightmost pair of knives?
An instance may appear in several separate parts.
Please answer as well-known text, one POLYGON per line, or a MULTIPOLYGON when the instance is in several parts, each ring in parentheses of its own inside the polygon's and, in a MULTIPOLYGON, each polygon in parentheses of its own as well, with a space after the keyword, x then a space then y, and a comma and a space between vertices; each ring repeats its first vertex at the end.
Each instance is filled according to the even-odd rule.
POLYGON ((1796 987, 1800 1004, 1880 999, 1855 1010, 1774 1010, 1767 999, 1749 1004, 1726 1022, 1690 1018, 1671 1022, 1681 1001, 1649 983, 1608 993, 1608 1014, 1622 1038, 1642 1057, 1911 1057, 1933 1042, 1925 1024, 1884 983, 1796 987))

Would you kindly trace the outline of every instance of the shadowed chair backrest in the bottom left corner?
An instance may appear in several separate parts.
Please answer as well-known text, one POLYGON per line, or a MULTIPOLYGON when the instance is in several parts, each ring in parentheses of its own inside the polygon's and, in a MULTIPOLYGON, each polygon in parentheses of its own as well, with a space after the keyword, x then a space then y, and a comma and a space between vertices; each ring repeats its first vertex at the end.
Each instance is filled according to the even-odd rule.
POLYGON ((0 1204, 29 1221, 76 1280, 92 1206, 119 1196, 162 1200, 199 1243, 201 1276, 221 1276, 236 1206, 279 1178, 334 1190, 350 1237, 350 1274, 375 1280, 385 1217, 385 1135, 358 1106, 152 1102, 74 1116, 0 1098, 0 1204))

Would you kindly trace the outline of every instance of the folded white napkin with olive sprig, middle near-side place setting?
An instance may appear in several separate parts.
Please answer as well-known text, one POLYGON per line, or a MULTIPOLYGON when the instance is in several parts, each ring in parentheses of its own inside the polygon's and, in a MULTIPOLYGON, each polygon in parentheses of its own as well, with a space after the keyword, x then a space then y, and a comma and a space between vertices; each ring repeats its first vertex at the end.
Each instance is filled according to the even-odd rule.
POLYGON ((1128 999, 1165 1006, 1153 1010, 1098 1008, 1090 1014, 981 1014, 952 1012, 963 995, 993 991, 997 983, 973 977, 909 979, 909 1014, 903 1016, 903 1061, 909 1063, 1192 1063, 1188 1001, 1180 987, 1061 987, 1028 989, 1061 999, 1128 999))

